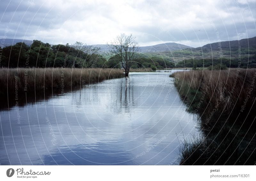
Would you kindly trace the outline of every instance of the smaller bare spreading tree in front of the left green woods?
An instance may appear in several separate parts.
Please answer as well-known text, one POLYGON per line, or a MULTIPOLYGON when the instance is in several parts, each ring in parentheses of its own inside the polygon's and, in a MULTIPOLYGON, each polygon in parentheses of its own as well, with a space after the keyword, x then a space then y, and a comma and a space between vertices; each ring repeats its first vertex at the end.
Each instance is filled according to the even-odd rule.
POLYGON ((86 43, 83 43, 81 41, 76 41, 76 43, 73 45, 74 45, 75 49, 78 50, 77 56, 80 58, 79 59, 80 66, 82 66, 83 54, 87 54, 86 57, 84 58, 84 62, 85 62, 84 65, 87 67, 90 62, 90 59, 88 56, 97 54, 97 52, 100 50, 99 47, 93 47, 92 45, 87 45, 86 43))

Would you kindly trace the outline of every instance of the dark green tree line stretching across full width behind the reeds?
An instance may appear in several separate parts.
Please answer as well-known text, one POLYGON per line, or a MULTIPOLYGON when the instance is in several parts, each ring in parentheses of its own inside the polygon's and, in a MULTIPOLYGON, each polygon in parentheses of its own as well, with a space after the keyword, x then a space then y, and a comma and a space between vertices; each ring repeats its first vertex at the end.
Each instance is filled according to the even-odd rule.
MULTIPOLYGON (((137 46, 137 44, 136 44, 137 46)), ((128 46, 127 46, 128 47, 128 46)), ((114 47, 115 48, 115 47, 114 47)), ((118 47, 119 48, 119 47, 118 47)), ((123 48, 123 47, 122 47, 123 48)), ((73 45, 50 45, 39 40, 34 40, 31 46, 25 43, 19 42, 13 46, 4 47, 1 51, 1 64, 0 67, 65 67, 70 68, 124 68, 127 67, 136 68, 151 68, 165 69, 165 68, 185 68, 185 67, 212 67, 212 66, 226 66, 241 68, 255 68, 256 61, 255 56, 241 56, 241 60, 238 59, 188 59, 185 61, 172 62, 164 60, 159 57, 146 57, 143 55, 136 56, 130 61, 125 62, 125 52, 116 52, 112 57, 106 59, 106 57, 100 55, 99 48, 91 45, 86 45, 82 42, 76 42, 73 45), (123 65, 122 65, 123 63, 123 65)), ((130 50, 126 53, 129 56, 130 50), (128 53, 127 53, 128 52, 128 53)), ((225 68, 225 67, 224 67, 225 68)))

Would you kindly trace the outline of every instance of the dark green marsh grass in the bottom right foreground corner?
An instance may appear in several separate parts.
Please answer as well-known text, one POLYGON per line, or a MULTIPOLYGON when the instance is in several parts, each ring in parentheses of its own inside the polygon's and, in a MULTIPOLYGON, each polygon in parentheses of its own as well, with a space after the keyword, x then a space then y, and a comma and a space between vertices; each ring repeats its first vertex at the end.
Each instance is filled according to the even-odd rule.
POLYGON ((218 134, 184 140, 180 165, 254 165, 256 140, 253 130, 247 131, 225 126, 218 134))

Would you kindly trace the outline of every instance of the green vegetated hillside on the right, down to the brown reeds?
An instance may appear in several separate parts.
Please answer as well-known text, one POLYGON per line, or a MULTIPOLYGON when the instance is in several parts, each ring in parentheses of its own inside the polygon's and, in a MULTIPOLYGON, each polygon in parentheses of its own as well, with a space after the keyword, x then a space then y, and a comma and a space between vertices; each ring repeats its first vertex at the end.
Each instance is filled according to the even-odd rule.
POLYGON ((175 62, 176 67, 209 67, 212 64, 224 63, 227 67, 237 67, 241 62, 242 68, 256 67, 255 37, 243 41, 222 41, 204 45, 203 47, 181 49, 175 51, 145 53, 148 57, 158 57, 166 62, 175 62), (249 47, 248 47, 249 41, 249 47), (239 46, 240 45, 240 46, 239 46), (222 62, 221 62, 222 60, 222 62), (224 62, 223 62, 224 61, 224 62))

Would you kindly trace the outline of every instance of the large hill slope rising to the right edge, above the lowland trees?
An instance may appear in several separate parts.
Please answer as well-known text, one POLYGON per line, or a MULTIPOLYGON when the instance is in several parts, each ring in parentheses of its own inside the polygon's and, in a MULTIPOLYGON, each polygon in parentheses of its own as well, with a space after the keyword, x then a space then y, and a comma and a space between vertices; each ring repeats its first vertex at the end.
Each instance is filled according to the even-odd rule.
MULTIPOLYGON (((151 53, 153 54, 153 53, 151 53)), ((154 53, 156 54, 156 53, 154 53)), ((189 59, 232 59, 237 60, 238 56, 243 61, 255 61, 256 37, 245 38, 234 41, 220 41, 206 44, 202 47, 175 50, 172 52, 159 52, 158 55, 167 57, 172 61, 184 61, 189 59), (240 47, 241 46, 241 47, 240 47)), ((157 55, 154 55, 157 56, 157 55)))

